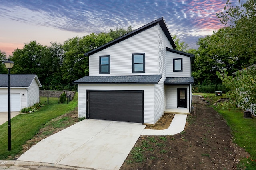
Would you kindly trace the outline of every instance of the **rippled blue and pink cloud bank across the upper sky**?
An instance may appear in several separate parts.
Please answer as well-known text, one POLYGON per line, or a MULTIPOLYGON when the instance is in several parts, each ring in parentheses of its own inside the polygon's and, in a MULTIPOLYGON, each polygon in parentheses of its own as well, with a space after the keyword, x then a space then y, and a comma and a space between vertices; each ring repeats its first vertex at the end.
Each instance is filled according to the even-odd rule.
POLYGON ((223 26, 215 13, 222 11, 226 3, 226 0, 0 1, 0 19, 79 34, 108 32, 129 25, 137 29, 163 16, 170 32, 189 44, 223 26))

